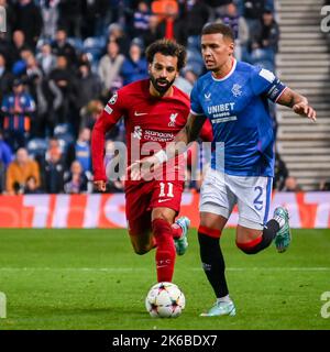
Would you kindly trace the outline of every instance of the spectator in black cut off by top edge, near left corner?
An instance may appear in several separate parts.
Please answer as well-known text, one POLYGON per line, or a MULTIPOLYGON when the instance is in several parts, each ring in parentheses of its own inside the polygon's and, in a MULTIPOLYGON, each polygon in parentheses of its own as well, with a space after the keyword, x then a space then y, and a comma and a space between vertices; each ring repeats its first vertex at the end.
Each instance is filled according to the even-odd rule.
POLYGON ((42 33, 43 19, 41 9, 32 0, 19 0, 14 4, 15 30, 24 33, 26 43, 35 48, 42 33))

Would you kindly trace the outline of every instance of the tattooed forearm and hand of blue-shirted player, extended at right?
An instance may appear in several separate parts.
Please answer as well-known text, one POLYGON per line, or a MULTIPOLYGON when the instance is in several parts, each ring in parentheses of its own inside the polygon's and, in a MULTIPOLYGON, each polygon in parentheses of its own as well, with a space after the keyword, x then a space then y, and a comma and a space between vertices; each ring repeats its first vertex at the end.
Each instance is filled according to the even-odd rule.
POLYGON ((290 88, 286 88, 276 102, 292 108, 297 114, 316 121, 316 111, 309 106, 307 98, 290 88))

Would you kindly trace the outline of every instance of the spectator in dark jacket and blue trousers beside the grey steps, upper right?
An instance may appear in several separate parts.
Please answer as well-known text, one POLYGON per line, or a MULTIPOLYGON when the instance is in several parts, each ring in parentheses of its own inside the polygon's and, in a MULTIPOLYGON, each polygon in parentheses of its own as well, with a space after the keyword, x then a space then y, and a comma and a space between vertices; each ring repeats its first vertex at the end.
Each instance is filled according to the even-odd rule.
POLYGON ((275 69, 275 55, 278 51, 279 28, 271 10, 264 10, 261 21, 251 32, 251 63, 260 64, 272 72, 275 69))

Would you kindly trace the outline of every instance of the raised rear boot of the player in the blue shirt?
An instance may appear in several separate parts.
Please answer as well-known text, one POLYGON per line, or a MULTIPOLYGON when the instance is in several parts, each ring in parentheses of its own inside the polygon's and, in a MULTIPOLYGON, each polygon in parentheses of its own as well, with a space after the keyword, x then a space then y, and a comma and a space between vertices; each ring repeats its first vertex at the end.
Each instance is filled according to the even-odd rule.
POLYGON ((277 252, 283 253, 287 250, 292 242, 289 216, 287 209, 277 207, 274 210, 274 220, 279 223, 279 230, 276 232, 274 243, 276 245, 277 252))

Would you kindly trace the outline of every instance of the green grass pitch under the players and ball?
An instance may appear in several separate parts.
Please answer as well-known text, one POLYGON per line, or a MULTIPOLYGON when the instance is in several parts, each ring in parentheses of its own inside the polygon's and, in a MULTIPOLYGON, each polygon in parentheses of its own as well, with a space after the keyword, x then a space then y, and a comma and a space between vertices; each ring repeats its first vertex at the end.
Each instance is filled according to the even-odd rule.
POLYGON ((153 319, 144 298, 155 283, 154 252, 133 253, 124 230, 0 230, 0 292, 7 318, 0 329, 330 329, 321 317, 330 292, 330 230, 294 230, 278 254, 254 256, 222 234, 235 317, 205 318, 213 304, 200 267, 196 230, 177 257, 174 282, 186 296, 177 319, 153 319))

